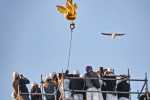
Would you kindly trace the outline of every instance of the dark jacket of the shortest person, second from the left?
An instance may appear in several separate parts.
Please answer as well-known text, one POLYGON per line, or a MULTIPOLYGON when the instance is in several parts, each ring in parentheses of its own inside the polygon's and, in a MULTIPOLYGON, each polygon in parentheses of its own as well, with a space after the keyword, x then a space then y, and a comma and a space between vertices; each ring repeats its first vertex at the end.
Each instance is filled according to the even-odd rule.
MULTIPOLYGON (((34 86, 31 89, 31 93, 41 93, 41 89, 38 86, 34 86)), ((31 94, 31 100, 42 100, 42 95, 31 94)))

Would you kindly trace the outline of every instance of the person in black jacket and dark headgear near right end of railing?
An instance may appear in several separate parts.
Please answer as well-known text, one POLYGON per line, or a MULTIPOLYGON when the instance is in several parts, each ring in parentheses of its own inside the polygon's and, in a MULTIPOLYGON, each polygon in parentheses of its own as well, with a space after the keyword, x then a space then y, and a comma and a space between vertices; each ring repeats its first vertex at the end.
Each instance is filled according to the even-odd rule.
MULTIPOLYGON (((121 75, 120 79, 125 79, 125 80, 120 80, 120 82, 117 85, 117 91, 129 92, 130 85, 126 81, 127 76, 126 75, 121 75)), ((118 93, 118 99, 119 100, 129 100, 129 93, 118 93)))

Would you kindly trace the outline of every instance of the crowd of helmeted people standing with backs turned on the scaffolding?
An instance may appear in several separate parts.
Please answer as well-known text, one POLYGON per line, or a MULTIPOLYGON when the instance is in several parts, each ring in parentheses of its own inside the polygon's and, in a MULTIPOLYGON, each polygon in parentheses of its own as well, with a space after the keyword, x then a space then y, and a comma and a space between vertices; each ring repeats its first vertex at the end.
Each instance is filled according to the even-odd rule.
POLYGON ((103 75, 99 69, 94 72, 92 66, 86 66, 85 70, 85 74, 80 74, 78 70, 74 70, 73 74, 69 74, 69 70, 63 74, 52 72, 45 78, 44 83, 44 91, 48 95, 42 95, 41 87, 33 82, 30 96, 26 87, 30 81, 23 75, 14 72, 13 88, 15 92, 12 93, 12 97, 15 100, 30 100, 30 97, 31 100, 42 100, 42 96, 45 96, 46 100, 129 100, 130 85, 126 75, 120 75, 120 82, 117 83, 117 77, 111 67, 103 75), (18 90, 22 94, 18 94, 18 90), (57 93, 56 97, 55 93, 57 93))

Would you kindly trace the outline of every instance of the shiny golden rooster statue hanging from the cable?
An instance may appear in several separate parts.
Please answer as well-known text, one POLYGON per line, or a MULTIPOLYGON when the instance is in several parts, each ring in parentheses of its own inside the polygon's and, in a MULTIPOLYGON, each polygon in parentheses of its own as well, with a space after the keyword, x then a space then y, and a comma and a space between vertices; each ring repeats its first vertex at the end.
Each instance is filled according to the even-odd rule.
POLYGON ((72 0, 67 0, 66 1, 66 8, 56 5, 57 10, 59 10, 66 19, 70 20, 71 22, 73 20, 76 19, 77 14, 76 14, 76 9, 78 8, 78 6, 76 5, 76 3, 74 3, 74 5, 72 4, 72 0))

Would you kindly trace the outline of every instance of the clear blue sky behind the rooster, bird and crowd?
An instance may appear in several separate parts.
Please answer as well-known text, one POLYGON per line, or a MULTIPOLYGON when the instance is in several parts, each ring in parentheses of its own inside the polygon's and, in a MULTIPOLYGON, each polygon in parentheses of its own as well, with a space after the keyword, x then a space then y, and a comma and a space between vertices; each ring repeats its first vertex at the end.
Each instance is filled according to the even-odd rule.
MULTIPOLYGON (((70 22, 56 10, 65 0, 0 0, 1 99, 13 100, 13 72, 30 82, 40 82, 51 72, 66 70, 70 22)), ((113 67, 115 74, 132 79, 150 78, 150 1, 74 0, 78 9, 74 21, 70 73, 85 73, 85 66, 113 67), (101 32, 125 33, 112 39, 101 32)), ((131 91, 143 82, 131 82, 131 91)), ((31 85, 27 85, 30 91, 31 85)), ((136 100, 137 95, 132 96, 136 100)))

